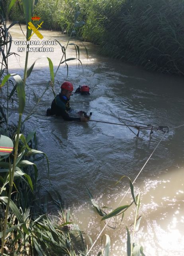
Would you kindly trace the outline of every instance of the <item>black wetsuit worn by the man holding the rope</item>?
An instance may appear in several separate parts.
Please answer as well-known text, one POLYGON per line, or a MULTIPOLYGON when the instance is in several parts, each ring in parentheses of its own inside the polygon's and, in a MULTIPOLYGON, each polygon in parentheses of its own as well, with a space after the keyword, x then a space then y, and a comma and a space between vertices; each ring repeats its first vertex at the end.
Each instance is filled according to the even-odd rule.
MULTIPOLYGON (((64 120, 67 121, 79 121, 80 117, 70 117, 68 111, 70 110, 70 102, 65 99, 65 96, 62 96, 61 93, 56 96, 51 104, 51 110, 49 115, 62 116, 64 120)), ((48 112, 48 110, 47 110, 48 112)))

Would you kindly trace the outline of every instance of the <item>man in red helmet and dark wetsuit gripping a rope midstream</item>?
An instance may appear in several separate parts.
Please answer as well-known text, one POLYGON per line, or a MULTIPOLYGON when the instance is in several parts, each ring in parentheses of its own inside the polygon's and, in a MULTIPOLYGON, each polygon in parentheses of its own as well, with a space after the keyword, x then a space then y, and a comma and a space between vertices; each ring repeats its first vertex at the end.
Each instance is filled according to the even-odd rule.
POLYGON ((68 111, 70 110, 70 96, 73 91, 73 85, 70 82, 64 82, 61 85, 61 92, 58 94, 51 104, 51 108, 47 109, 47 116, 62 116, 64 120, 67 121, 78 121, 78 122, 88 122, 88 118, 82 117, 71 117, 68 111))

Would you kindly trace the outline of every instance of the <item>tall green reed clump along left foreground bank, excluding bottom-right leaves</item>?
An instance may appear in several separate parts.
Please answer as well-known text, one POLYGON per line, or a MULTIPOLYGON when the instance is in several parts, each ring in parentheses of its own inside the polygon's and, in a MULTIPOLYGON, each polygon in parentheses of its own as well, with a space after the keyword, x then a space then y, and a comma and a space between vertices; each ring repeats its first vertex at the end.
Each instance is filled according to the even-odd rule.
MULTIPOLYGON (((2 1, 0 1, 2 3, 2 1)), ((22 2, 23 6, 23 12, 25 16, 25 22, 26 24, 31 20, 31 16, 33 16, 33 4, 34 1, 32 0, 23 0, 22 2)), ((6 10, 5 13, 8 14, 12 6, 15 4, 14 0, 11 0, 8 2, 9 6, 7 6, 8 10, 6 10)), ((73 27, 77 27, 79 24, 76 22, 76 19, 78 17, 79 13, 76 14, 74 25, 73 27)), ((4 30, 2 32, 5 32, 4 34, 9 35, 8 29, 6 27, 6 21, 2 16, 2 23, 4 24, 4 30)), ((16 22, 13 22, 11 26, 16 24, 16 22)), ((10 28, 9 27, 9 28, 10 28)), ((27 26, 26 26, 27 27, 27 26)), ((2 27, 1 27, 2 28, 2 27)), ((2 49, 6 49, 6 46, 8 46, 8 43, 10 44, 12 40, 9 40, 8 43, 7 40, 5 41, 3 39, 3 33, 1 33, 1 53, 2 49), (3 48, 4 47, 4 48, 3 48)), ((27 28, 27 34, 26 38, 29 38, 31 35, 31 30, 27 28)), ((6 39, 6 37, 5 37, 6 39)), ((28 40, 28 39, 27 39, 28 40)), ((59 43, 60 44, 60 43, 59 43)), ((67 46, 70 45, 69 41, 67 46)), ((61 61, 59 62, 59 67, 61 64, 65 63, 67 64, 70 60, 78 60, 79 63, 79 48, 76 44, 74 45, 76 49, 76 58, 69 58, 66 59, 66 49, 67 46, 61 46, 63 57, 61 58, 61 61)), ((27 46, 29 47, 29 45, 27 46)), ((1 190, 0 190, 0 208, 2 209, 2 212, 5 214, 2 217, 1 225, 3 226, 3 231, 0 234, 1 238, 1 255, 72 255, 76 256, 76 244, 80 242, 82 238, 82 234, 80 230, 77 230, 75 227, 74 229, 76 231, 72 231, 69 228, 69 224, 71 222, 68 221, 69 214, 65 216, 63 213, 63 221, 61 224, 56 224, 55 222, 51 222, 50 218, 47 217, 44 210, 41 207, 40 203, 37 203, 36 201, 38 198, 36 198, 37 193, 37 174, 38 170, 36 165, 31 161, 31 158, 35 154, 44 154, 41 151, 35 150, 31 148, 31 140, 32 137, 35 136, 34 132, 31 132, 28 134, 27 138, 23 136, 23 134, 20 133, 20 129, 22 126, 22 114, 25 107, 25 83, 27 77, 31 74, 35 62, 31 65, 30 68, 27 68, 27 62, 28 62, 28 54, 29 52, 26 51, 26 57, 25 57, 25 68, 24 68, 24 75, 23 79, 18 74, 9 74, 8 73, 8 64, 6 66, 6 70, 1 69, 1 84, 0 87, 3 87, 6 85, 9 86, 10 77, 12 76, 16 82, 16 85, 14 86, 14 89, 10 93, 10 95, 13 95, 15 93, 15 90, 18 95, 18 113, 19 113, 19 120, 18 120, 18 126, 16 127, 16 130, 14 130, 14 134, 12 133, 12 130, 10 129, 10 124, 6 123, 6 127, 8 126, 8 132, 13 140, 15 140, 14 144, 14 152, 10 155, 8 158, 8 155, 6 155, 4 158, 0 158, 0 171, 1 173, 5 173, 4 175, 0 176, 0 182, 2 184, 1 190), (11 131, 10 131, 11 130, 11 131), (6 159, 5 159, 6 158, 6 159), (29 170, 29 166, 33 166, 34 168, 34 178, 29 176, 27 174, 27 170, 29 170), (24 172, 24 169, 26 172, 24 172), (20 182, 20 178, 23 180, 23 182, 20 182), (18 179, 18 180, 17 180, 18 179), (35 205, 36 204, 36 205, 35 205), (6 205, 6 209, 4 210, 4 205, 6 205), (35 214, 33 215, 33 206, 39 211, 35 212, 35 214, 42 213, 39 218, 35 218, 35 214), (11 209, 11 211, 9 210, 11 209), (79 241, 78 241, 79 240, 79 241)), ((3 54, 2 54, 3 55, 3 54)), ((57 71, 59 67, 57 68, 56 72, 53 71, 53 63, 51 59, 47 58, 49 61, 49 68, 50 68, 50 75, 51 80, 49 82, 49 86, 47 86, 47 89, 49 87, 52 88, 54 92, 54 78, 57 74, 57 71)), ((7 63, 8 62, 8 54, 3 55, 2 62, 7 63)), ((68 65, 67 65, 68 70, 68 65)), ((7 99, 10 97, 7 92, 7 99)), ((38 102, 37 102, 38 103, 38 102)), ((3 109, 2 109, 3 111, 3 109)), ((3 112, 2 112, 3 113, 3 112)), ((31 112, 32 113, 32 112, 31 112)), ((31 114, 30 114, 31 115, 31 114)), ((30 115, 28 117, 30 117, 30 115)), ((4 117, 6 117, 4 115, 4 117)), ((3 130, 3 128, 0 126, 0 132, 1 134, 4 133, 5 136, 8 136, 6 132, 3 130)), ((44 154, 45 155, 45 154, 44 154)), ((47 156, 45 156, 47 159, 47 156)), ((33 160, 33 159, 32 159, 33 160)), ((47 163, 49 165, 49 161, 47 159, 47 163)), ((62 209, 61 209, 62 212, 62 209)), ((85 251, 84 245, 82 244, 82 251, 85 251)), ((84 255, 83 252, 80 252, 78 249, 78 252, 80 252, 80 255, 84 255)))

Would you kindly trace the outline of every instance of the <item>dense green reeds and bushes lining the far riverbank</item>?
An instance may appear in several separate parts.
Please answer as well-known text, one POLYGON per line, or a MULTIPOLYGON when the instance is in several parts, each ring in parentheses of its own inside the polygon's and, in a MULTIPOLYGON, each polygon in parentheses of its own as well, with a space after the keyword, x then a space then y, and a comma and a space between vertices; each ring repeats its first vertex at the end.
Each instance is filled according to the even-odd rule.
MULTIPOLYGON (((22 7, 10 18, 22 21, 22 7)), ((184 0, 38 0, 35 14, 46 29, 71 32, 74 14, 83 40, 100 53, 151 71, 184 75, 184 0)))

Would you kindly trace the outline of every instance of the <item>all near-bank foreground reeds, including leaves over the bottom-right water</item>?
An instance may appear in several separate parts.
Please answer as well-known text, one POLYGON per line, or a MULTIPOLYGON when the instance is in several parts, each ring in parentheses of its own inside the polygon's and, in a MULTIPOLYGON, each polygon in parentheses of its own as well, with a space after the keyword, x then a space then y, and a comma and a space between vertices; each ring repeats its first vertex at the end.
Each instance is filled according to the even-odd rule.
MULTIPOLYGON (((70 220, 69 211, 64 209, 61 196, 56 193, 52 198, 52 202, 59 207, 60 215, 58 214, 58 216, 49 216, 47 204, 43 203, 39 196, 39 170, 35 163, 40 159, 40 155, 44 156, 48 168, 47 177, 49 178, 49 160, 43 152, 37 150, 37 136, 34 131, 29 132, 27 136, 23 135, 23 126, 26 125, 26 122, 29 122, 29 118, 40 100, 39 98, 33 110, 23 120, 26 88, 29 86, 26 81, 31 76, 35 64, 33 63, 30 68, 27 66, 29 51, 26 51, 23 78, 18 74, 10 74, 8 69, 9 56, 16 55, 16 53, 11 52, 12 36, 9 33, 9 29, 18 22, 12 22, 7 26, 6 16, 15 2, 14 0, 10 1, 9 7, 7 6, 4 9, 4 2, 0 1, 0 89, 2 95, 0 101, 0 255, 87 256, 90 255, 90 251, 86 246, 86 242, 84 242, 85 234, 70 220), (12 102, 15 102, 14 107, 17 109, 17 125, 9 118, 10 104, 12 102), (4 152, 2 152, 3 150, 4 152)), ((31 20, 31 16, 33 16, 35 6, 32 0, 23 0, 20 4, 22 4, 23 17, 27 24, 31 20)), ((80 13, 76 12, 72 31, 76 28, 80 30, 80 24, 83 24, 82 21, 77 20, 79 15, 80 13)), ((26 40, 29 40, 30 36, 31 30, 27 27, 26 40)), ((61 64, 67 64, 67 61, 75 59, 65 58, 67 46, 62 46, 61 48, 63 57, 57 70, 61 64)), ((29 45, 27 45, 28 47, 29 45)), ((76 45, 75 47, 77 52, 79 48, 76 45)), ((78 60, 77 56, 76 59, 78 60)), ((46 90, 50 88, 54 93, 54 80, 57 70, 54 72, 52 60, 50 58, 47 58, 47 60, 51 77, 46 90)), ((80 60, 78 61, 80 62, 80 60)), ((46 173, 45 168, 41 171, 46 173)), ((90 191, 88 192, 94 208, 102 217, 102 221, 121 214, 122 222, 124 212, 135 204, 134 234, 139 209, 139 194, 135 196, 131 180, 129 180, 129 184, 133 198, 132 202, 128 205, 119 206, 115 210, 109 208, 108 212, 103 210, 105 207, 103 209, 100 208, 94 202, 90 191)), ((132 256, 137 252, 144 255, 143 248, 133 244, 133 234, 131 239, 127 228, 127 255, 132 256)), ((90 241, 93 244, 91 239, 90 241)), ((108 256, 109 252, 110 238, 106 235, 104 249, 97 253, 99 256, 108 256)))

